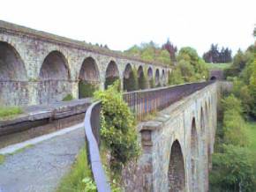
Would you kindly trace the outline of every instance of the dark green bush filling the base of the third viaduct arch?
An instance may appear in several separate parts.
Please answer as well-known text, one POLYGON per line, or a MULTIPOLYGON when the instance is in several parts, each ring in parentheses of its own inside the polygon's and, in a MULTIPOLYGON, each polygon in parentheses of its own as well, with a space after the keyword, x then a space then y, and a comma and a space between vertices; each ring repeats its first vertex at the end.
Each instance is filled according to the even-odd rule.
POLYGON ((79 81, 79 98, 93 97, 99 85, 90 84, 87 81, 79 81))

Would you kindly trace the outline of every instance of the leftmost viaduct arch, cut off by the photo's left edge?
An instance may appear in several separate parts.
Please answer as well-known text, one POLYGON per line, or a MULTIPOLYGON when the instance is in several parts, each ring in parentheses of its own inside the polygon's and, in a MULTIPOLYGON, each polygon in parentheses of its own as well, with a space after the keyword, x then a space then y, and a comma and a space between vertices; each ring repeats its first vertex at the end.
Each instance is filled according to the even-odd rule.
POLYGON ((26 105, 26 67, 10 44, 0 41, 0 106, 26 105))

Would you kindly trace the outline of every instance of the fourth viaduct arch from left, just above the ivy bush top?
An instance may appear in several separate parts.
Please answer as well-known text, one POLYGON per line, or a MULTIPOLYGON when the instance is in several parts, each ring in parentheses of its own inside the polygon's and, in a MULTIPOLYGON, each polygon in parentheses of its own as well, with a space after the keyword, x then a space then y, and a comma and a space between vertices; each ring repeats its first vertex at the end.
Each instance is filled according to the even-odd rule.
POLYGON ((119 70, 117 68, 117 63, 111 61, 106 70, 106 77, 105 77, 105 89, 108 88, 109 85, 114 84, 115 81, 119 79, 119 70))

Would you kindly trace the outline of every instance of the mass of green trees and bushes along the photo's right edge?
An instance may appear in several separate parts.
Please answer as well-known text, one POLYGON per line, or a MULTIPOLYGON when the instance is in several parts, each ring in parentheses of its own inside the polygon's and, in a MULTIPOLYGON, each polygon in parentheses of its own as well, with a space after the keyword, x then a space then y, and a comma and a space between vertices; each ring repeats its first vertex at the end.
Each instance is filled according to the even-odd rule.
POLYGON ((233 89, 218 113, 211 191, 253 191, 256 187, 256 61, 252 50, 239 50, 226 70, 233 89))

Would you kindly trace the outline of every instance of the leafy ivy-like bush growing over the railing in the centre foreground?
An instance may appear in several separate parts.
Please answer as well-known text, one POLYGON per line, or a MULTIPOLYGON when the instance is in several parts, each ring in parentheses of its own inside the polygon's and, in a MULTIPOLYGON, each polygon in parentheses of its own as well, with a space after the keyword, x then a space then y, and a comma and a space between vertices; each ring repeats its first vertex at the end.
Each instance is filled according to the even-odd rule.
POLYGON ((139 144, 135 119, 118 92, 119 82, 110 85, 106 91, 94 93, 97 100, 102 100, 101 138, 109 148, 110 168, 120 171, 129 160, 139 155, 139 144))

